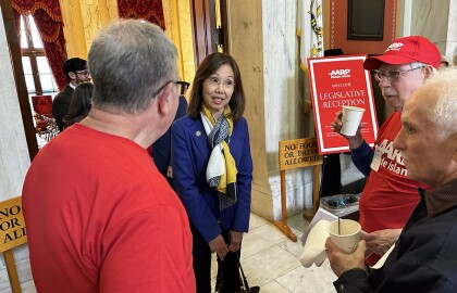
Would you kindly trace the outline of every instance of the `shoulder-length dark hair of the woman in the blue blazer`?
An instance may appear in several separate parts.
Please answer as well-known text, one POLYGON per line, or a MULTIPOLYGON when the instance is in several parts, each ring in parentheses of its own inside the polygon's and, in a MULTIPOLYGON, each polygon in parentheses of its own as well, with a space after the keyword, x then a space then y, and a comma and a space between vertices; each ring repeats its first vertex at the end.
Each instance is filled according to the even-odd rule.
POLYGON ((200 63, 200 66, 198 66, 190 91, 189 105, 187 107, 187 115, 189 117, 195 119, 200 115, 201 103, 203 102, 203 82, 222 65, 228 65, 232 67, 235 81, 235 88, 228 102, 228 106, 232 110, 231 118, 233 119, 234 124, 236 124, 242 118, 243 113, 245 112, 246 103, 245 91, 243 89, 242 82, 242 74, 239 73, 239 68, 235 60, 231 55, 220 52, 208 55, 200 63))

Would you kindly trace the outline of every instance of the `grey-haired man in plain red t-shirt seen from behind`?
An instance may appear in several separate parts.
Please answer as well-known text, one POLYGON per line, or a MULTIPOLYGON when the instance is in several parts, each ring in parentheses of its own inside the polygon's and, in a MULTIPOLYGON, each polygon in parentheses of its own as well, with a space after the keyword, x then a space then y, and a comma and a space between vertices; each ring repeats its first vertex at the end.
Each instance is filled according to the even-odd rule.
POLYGON ((92 110, 38 153, 23 187, 38 292, 196 291, 186 212, 146 151, 177 109, 176 55, 143 21, 94 40, 92 110))

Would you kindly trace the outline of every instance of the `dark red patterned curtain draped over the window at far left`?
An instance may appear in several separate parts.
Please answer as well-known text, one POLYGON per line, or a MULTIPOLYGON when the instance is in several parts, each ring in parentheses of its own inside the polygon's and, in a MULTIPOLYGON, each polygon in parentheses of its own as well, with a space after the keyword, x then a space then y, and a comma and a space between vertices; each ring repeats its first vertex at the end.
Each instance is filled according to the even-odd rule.
POLYGON ((69 80, 62 68, 63 62, 66 60, 66 51, 59 0, 12 0, 11 5, 14 11, 24 16, 32 13, 41 36, 46 58, 55 78, 55 84, 62 90, 69 80))

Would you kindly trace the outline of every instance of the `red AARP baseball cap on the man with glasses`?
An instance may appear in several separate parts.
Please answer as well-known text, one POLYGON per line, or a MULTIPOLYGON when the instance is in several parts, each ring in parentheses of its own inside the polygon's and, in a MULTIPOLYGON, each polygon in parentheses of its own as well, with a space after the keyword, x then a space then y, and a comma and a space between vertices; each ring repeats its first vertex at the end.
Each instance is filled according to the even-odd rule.
POLYGON ((367 58, 363 68, 367 71, 378 69, 382 63, 402 65, 412 62, 421 62, 440 68, 441 53, 437 47, 428 38, 409 36, 396 39, 384 54, 367 58))

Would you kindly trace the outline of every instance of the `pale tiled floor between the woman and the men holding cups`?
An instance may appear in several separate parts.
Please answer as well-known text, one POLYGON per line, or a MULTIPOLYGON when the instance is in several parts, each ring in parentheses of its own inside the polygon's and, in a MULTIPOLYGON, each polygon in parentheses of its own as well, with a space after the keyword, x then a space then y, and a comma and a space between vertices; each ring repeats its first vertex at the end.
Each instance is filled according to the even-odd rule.
MULTIPOLYGON (((336 292, 332 284, 336 276, 330 269, 329 260, 321 267, 305 268, 300 264, 300 238, 308 221, 296 215, 287 224, 297 235, 297 242, 289 240, 272 222, 251 214, 249 233, 244 235, 242 251, 242 265, 249 285, 260 285, 261 293, 336 292)), ((214 282, 215 259, 212 265, 214 282)))

